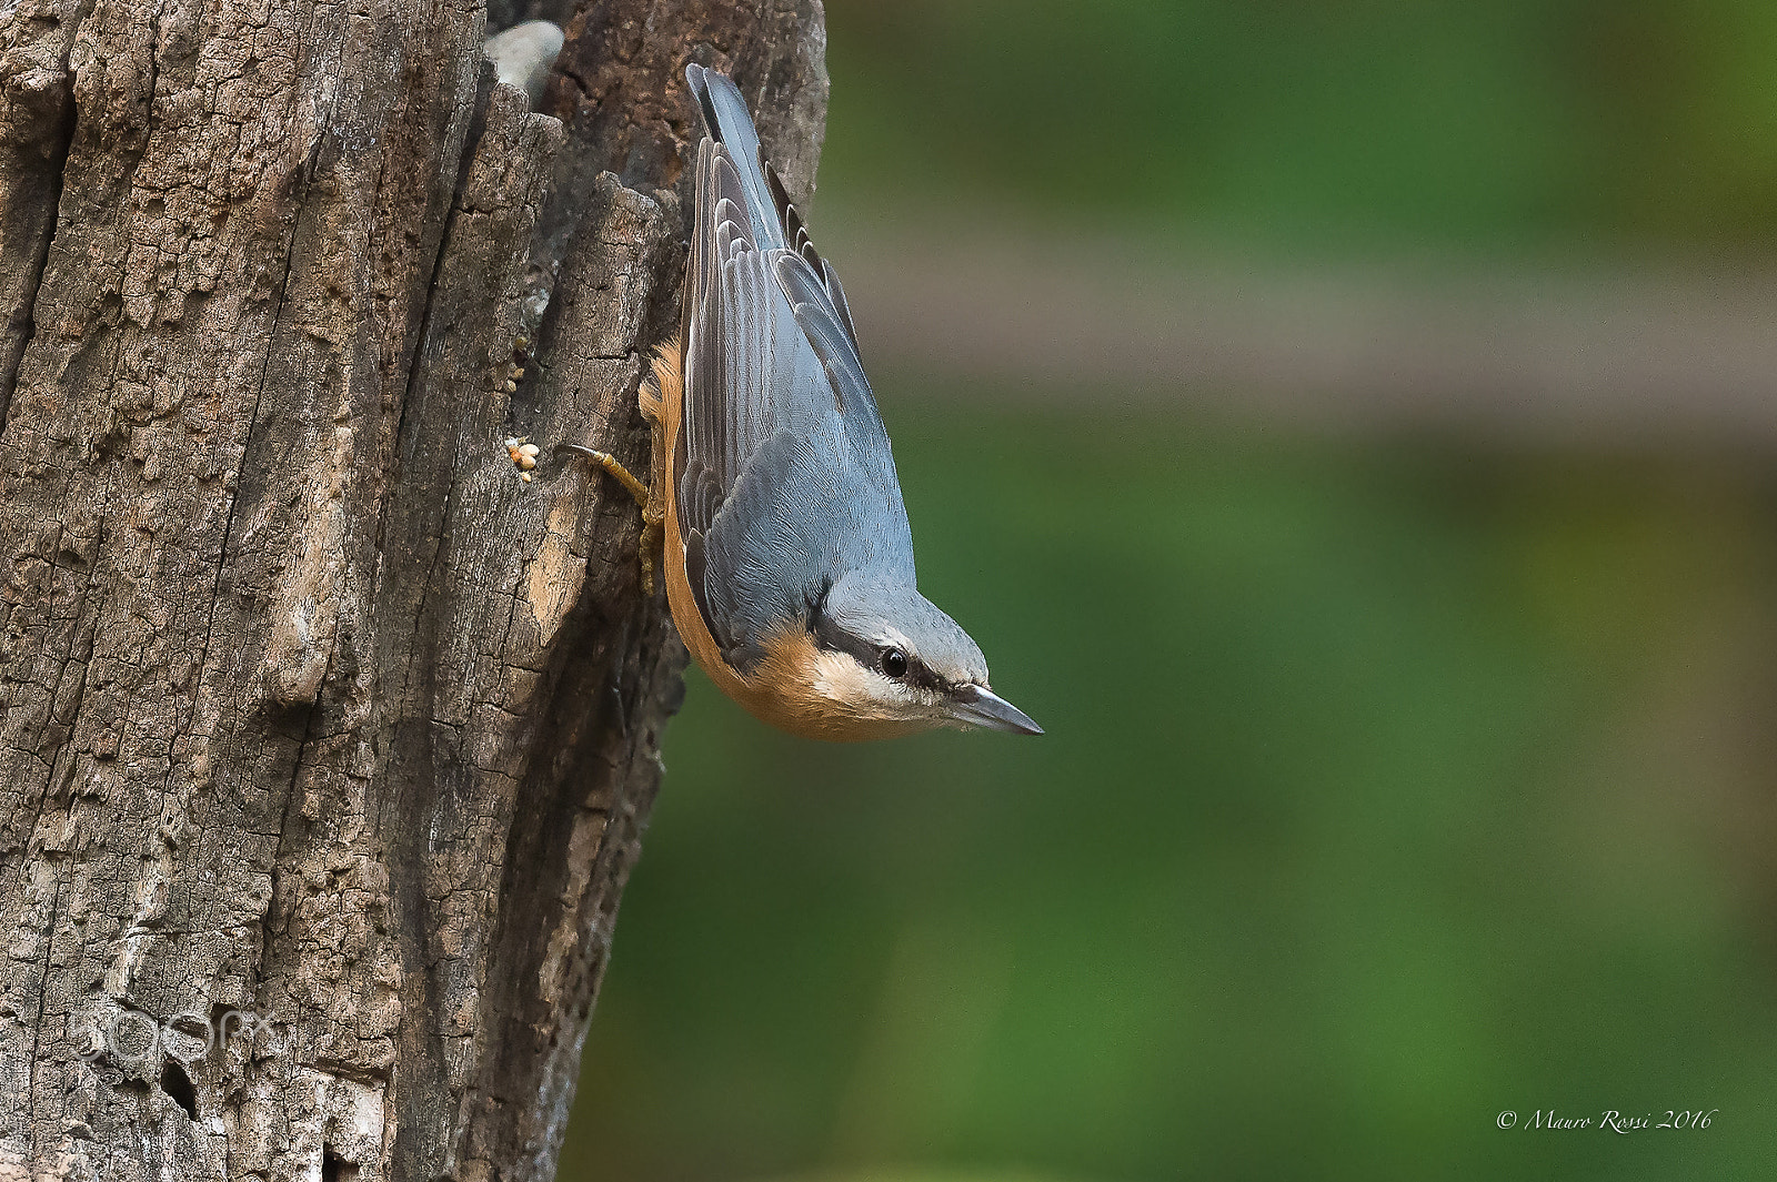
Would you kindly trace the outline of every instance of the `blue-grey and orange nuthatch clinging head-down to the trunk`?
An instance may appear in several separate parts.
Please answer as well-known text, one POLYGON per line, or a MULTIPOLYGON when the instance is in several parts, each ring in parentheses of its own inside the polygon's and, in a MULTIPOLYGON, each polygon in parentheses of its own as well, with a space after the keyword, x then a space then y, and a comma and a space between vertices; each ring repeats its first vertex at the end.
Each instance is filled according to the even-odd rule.
POLYGON ((641 396, 654 492, 611 456, 567 447, 643 504, 645 564, 665 531, 679 635, 759 719, 830 740, 933 726, 1041 735, 988 689, 981 650, 915 586, 846 295, 741 92, 702 66, 686 80, 705 133, 679 341, 656 353, 641 396))

